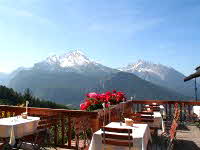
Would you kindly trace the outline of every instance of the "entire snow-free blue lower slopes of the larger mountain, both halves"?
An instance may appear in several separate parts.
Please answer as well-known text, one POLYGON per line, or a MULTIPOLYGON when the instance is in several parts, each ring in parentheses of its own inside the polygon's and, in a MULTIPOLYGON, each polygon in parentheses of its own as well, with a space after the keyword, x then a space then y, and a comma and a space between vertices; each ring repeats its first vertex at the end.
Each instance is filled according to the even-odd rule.
POLYGON ((113 73, 103 80, 76 73, 46 73, 23 71, 11 81, 17 91, 29 87, 34 95, 62 104, 78 105, 88 92, 105 92, 117 89, 137 99, 190 99, 166 88, 140 79, 131 73, 113 73), (104 86, 102 84, 104 83, 104 86))

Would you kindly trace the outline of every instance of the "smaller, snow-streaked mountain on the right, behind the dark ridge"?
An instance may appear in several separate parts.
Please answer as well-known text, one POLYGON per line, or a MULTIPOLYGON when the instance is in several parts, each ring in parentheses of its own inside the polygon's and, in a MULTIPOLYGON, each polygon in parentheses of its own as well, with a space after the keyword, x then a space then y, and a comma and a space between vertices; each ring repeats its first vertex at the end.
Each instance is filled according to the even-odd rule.
POLYGON ((169 88, 186 96, 194 96, 194 82, 184 82, 185 76, 171 67, 139 60, 121 68, 159 86, 169 88))

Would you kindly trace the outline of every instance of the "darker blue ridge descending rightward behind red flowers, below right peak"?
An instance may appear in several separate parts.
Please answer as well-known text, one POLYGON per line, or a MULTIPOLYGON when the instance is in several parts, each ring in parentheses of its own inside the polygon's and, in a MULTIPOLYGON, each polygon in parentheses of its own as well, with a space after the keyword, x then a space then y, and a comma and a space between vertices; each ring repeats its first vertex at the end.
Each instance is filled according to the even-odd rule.
POLYGON ((189 100, 177 92, 152 84, 131 73, 119 72, 105 81, 105 89, 117 89, 136 99, 189 100))

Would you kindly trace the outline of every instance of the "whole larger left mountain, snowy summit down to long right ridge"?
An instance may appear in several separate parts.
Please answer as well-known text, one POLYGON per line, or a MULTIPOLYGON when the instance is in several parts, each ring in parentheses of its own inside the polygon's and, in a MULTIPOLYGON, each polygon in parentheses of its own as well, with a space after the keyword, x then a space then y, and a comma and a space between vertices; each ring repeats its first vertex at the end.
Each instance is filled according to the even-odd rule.
POLYGON ((35 96, 62 104, 78 105, 88 92, 121 90, 128 98, 184 99, 181 94, 140 79, 132 73, 91 61, 80 51, 50 56, 32 68, 18 72, 9 87, 19 92, 30 88, 35 96))

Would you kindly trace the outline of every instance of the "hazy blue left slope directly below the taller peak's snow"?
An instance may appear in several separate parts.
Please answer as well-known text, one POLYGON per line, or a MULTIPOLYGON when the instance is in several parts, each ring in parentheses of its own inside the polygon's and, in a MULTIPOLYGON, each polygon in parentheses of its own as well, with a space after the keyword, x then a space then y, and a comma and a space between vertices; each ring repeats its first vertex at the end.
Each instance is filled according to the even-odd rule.
POLYGON ((30 88, 33 94, 62 104, 78 104, 85 94, 97 87, 98 80, 74 72, 21 71, 10 87, 19 92, 30 88))

